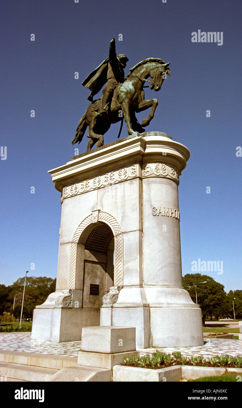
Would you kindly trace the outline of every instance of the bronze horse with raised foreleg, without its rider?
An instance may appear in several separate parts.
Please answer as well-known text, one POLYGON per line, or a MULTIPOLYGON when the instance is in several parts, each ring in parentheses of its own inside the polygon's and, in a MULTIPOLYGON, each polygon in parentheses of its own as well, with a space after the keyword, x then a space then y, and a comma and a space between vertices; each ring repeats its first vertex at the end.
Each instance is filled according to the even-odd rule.
POLYGON ((120 122, 123 117, 129 135, 135 132, 144 132, 145 129, 142 126, 147 126, 150 123, 158 105, 157 99, 144 99, 144 84, 146 81, 150 82, 149 88, 159 91, 166 74, 170 76, 169 64, 170 62, 165 64, 160 58, 147 58, 131 68, 124 82, 115 89, 110 109, 105 117, 100 114, 102 98, 94 100, 88 106, 78 123, 72 144, 82 141, 87 126, 89 126, 87 137, 90 140, 87 144, 87 151, 90 151, 95 143, 97 147, 102 146, 104 143, 103 135, 109 130, 112 123, 120 122), (149 77, 151 81, 147 80, 149 77), (135 112, 144 111, 150 106, 152 109, 148 117, 143 119, 140 124, 135 117, 135 112))

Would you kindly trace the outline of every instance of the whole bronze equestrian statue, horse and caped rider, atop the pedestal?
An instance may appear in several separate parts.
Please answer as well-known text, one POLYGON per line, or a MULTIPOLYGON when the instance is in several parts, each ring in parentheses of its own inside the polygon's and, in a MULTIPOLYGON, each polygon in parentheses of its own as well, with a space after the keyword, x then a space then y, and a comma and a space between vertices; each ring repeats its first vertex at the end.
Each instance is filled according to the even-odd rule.
POLYGON ((94 100, 88 106, 78 123, 72 144, 82 141, 87 126, 89 126, 87 137, 90 138, 87 151, 90 151, 95 143, 97 147, 103 145, 103 135, 109 130, 112 123, 120 122, 123 117, 129 135, 135 132, 144 132, 145 129, 142 126, 148 126, 153 119, 158 101, 157 99, 144 99, 144 84, 150 82, 149 88, 159 91, 166 75, 170 76, 170 69, 168 68, 170 62, 166 64, 160 58, 147 58, 131 68, 124 79, 124 68, 127 61, 126 55, 116 56, 113 38, 109 46, 109 58, 103 61, 83 81, 83 85, 91 91, 88 97, 91 101, 106 82, 107 85, 102 91, 102 98, 94 100), (147 79, 149 77, 151 80, 147 79), (140 124, 135 112, 144 111, 150 106, 152 109, 148 117, 143 119, 140 124))

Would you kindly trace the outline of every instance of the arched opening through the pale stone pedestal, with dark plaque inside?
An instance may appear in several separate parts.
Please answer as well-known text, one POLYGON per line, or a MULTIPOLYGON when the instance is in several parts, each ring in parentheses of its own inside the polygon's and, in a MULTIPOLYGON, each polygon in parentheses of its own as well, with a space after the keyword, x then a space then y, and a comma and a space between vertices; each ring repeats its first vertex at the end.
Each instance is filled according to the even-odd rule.
POLYGON ((83 326, 100 324, 102 297, 113 286, 115 237, 102 221, 86 224, 78 235, 75 255, 75 289, 81 290, 83 326))

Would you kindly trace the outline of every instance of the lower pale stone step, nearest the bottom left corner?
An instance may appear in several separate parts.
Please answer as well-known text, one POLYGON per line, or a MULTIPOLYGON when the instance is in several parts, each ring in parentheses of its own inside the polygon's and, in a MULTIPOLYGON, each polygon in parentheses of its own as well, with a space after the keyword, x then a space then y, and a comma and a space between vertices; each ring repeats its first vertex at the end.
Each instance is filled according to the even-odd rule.
POLYGON ((0 376, 24 381, 48 381, 59 370, 0 362, 0 376))

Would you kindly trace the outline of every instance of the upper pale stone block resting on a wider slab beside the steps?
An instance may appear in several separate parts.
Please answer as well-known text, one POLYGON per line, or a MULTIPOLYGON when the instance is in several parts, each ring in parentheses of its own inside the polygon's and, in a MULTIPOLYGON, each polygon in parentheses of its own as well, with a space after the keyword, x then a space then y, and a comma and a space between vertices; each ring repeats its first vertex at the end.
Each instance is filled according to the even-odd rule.
POLYGON ((83 327, 81 350, 97 353, 121 353, 136 350, 135 327, 83 327))

